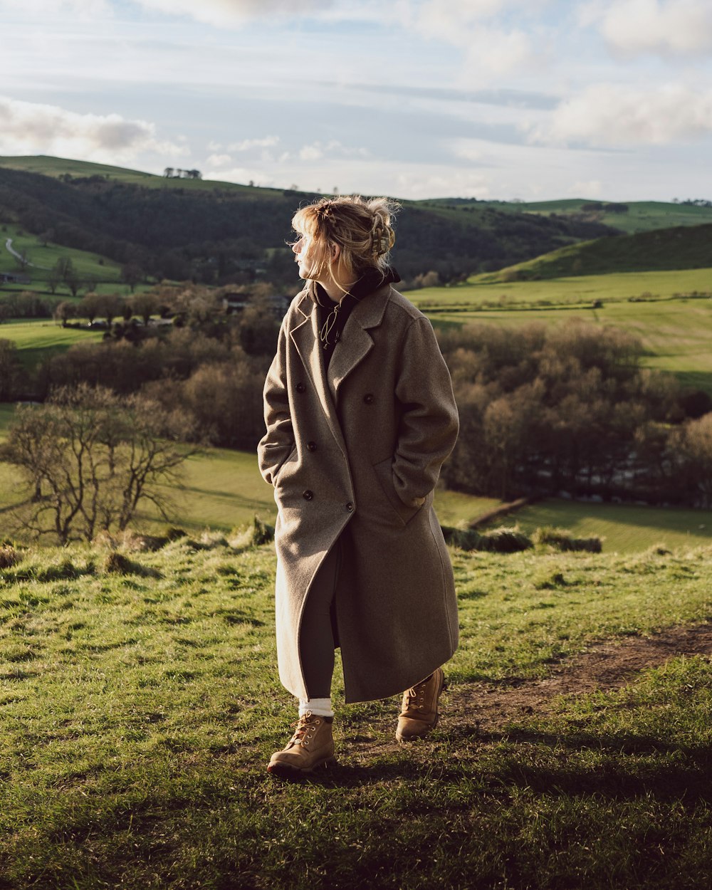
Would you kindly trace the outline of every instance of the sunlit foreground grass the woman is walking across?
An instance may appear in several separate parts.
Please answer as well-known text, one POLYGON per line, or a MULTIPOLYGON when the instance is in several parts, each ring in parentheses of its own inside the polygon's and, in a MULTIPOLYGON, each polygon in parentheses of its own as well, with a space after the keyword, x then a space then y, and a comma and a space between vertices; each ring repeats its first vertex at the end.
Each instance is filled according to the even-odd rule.
POLYGON ((338 765, 297 783, 265 772, 295 718, 272 546, 121 557, 30 550, 0 570, 9 890, 708 886, 708 659, 495 728, 480 707, 601 640, 708 619, 709 548, 453 551, 461 636, 438 728, 399 746, 399 698, 344 707, 336 679, 338 765))

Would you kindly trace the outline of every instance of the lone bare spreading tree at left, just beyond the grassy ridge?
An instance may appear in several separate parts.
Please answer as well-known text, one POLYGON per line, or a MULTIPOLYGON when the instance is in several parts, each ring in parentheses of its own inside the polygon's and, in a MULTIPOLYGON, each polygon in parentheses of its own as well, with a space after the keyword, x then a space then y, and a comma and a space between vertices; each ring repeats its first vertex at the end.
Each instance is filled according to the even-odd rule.
POLYGON ((122 401, 86 384, 18 409, 0 457, 18 467, 28 495, 34 492, 15 510, 19 527, 65 544, 125 530, 146 502, 167 519, 166 491, 198 450, 175 444, 183 424, 155 402, 122 401))

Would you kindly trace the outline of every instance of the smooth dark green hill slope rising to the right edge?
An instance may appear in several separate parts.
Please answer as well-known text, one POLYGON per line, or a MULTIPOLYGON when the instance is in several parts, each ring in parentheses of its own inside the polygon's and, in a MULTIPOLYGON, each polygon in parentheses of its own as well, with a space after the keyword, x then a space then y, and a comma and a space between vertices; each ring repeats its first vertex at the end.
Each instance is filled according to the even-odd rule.
MULTIPOLYGON (((584 241, 517 263, 477 281, 526 281, 712 267, 712 223, 584 241)), ((712 286, 712 281, 710 281, 712 286)))

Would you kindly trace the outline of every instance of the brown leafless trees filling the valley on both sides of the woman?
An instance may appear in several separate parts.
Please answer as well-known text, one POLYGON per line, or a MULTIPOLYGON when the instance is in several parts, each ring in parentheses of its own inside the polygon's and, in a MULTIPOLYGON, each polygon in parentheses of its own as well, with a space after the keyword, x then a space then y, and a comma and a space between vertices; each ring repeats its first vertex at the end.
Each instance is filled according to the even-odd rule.
MULTIPOLYGON (((279 329, 268 297, 251 295, 229 315, 213 291, 185 287, 171 298, 180 326, 128 337, 115 324, 101 343, 45 360, 36 395, 112 392, 154 406, 157 435, 255 449, 279 329)), ((440 342, 461 423, 442 471, 449 488, 505 500, 570 495, 712 507, 712 400, 643 368, 635 336, 571 320, 470 325, 441 332, 440 342)), ((14 353, 0 342, 0 399, 24 379, 14 353)))

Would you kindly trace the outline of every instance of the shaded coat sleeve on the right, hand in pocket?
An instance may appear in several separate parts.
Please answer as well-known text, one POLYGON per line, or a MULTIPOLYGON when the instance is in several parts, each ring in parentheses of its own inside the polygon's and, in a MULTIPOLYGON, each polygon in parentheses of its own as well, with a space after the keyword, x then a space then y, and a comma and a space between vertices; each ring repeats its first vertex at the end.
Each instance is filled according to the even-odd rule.
POLYGON ((402 415, 393 456, 393 485, 404 504, 420 506, 435 488, 458 430, 448 366, 425 317, 413 321, 406 333, 395 394, 402 415))

